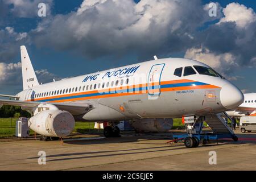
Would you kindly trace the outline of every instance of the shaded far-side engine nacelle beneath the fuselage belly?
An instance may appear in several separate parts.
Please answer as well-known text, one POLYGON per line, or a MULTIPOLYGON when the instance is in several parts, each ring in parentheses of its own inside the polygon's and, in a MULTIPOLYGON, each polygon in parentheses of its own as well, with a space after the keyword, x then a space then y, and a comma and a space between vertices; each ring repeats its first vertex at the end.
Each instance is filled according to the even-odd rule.
POLYGON ((136 119, 131 122, 131 126, 145 132, 164 133, 171 130, 174 124, 172 118, 148 118, 136 119))

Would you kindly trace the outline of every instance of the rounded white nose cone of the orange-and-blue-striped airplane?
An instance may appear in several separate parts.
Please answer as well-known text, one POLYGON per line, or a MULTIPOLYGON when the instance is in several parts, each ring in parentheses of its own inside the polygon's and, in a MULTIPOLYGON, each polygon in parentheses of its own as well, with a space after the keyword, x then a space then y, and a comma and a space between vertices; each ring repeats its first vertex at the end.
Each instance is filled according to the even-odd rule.
POLYGON ((224 85, 220 91, 220 101, 226 109, 236 109, 243 99, 241 90, 232 84, 224 85))

